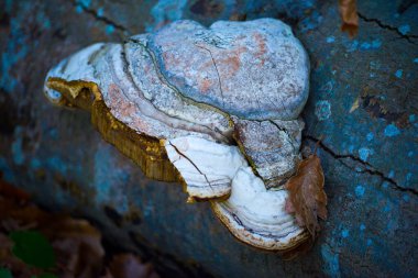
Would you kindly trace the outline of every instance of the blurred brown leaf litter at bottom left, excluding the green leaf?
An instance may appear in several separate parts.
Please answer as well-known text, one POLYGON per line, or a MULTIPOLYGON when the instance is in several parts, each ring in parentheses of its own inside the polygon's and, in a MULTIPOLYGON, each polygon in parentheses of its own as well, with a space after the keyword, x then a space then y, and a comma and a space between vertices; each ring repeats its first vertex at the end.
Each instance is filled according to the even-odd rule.
POLYGON ((85 220, 40 209, 29 202, 26 192, 1 180, 0 175, 0 267, 10 269, 15 278, 37 276, 40 269, 28 267, 11 253, 12 242, 6 234, 20 230, 36 230, 48 238, 56 254, 54 273, 61 278, 102 274, 102 278, 158 278, 151 264, 132 254, 114 256, 106 267, 97 229, 85 220))

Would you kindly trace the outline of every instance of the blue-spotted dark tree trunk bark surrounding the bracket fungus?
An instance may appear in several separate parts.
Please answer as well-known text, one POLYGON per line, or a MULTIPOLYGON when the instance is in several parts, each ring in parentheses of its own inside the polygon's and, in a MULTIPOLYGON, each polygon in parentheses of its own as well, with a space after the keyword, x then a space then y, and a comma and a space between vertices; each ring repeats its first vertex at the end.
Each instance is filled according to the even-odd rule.
POLYGON ((162 274, 184 277, 408 277, 418 273, 418 4, 359 1, 355 38, 337 1, 0 2, 0 170, 50 209, 84 215, 108 241, 162 274), (239 243, 208 203, 144 178, 105 143, 86 112, 51 105, 47 69, 95 42, 120 42, 177 19, 273 16, 310 55, 304 144, 318 155, 329 219, 312 251, 292 262, 239 243))

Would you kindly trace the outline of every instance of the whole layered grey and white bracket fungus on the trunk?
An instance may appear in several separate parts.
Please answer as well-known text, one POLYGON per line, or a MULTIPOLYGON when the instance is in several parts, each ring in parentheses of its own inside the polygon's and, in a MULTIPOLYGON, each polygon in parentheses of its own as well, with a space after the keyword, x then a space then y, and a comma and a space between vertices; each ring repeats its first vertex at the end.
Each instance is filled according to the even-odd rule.
POLYGON ((45 94, 90 110, 105 140, 210 200, 239 240, 285 252, 309 237, 283 187, 301 160, 308 87, 308 55, 283 22, 183 20, 81 49, 50 70, 45 94))

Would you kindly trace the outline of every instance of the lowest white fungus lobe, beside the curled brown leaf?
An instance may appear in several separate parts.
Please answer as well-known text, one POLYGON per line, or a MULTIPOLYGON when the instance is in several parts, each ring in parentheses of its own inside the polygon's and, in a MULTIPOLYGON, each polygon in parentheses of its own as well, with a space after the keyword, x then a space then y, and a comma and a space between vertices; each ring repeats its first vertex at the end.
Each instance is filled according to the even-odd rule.
POLYGON ((215 201, 220 220, 241 241, 265 249, 285 249, 304 229, 285 211, 286 190, 266 190, 250 167, 241 167, 227 201, 215 201))

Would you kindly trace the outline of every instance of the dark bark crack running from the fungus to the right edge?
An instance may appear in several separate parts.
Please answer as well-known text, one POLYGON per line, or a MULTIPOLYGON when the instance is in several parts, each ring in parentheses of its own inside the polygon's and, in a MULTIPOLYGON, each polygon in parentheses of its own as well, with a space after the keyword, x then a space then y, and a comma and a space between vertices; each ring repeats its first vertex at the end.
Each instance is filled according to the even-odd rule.
POLYGON ((360 157, 356 157, 354 155, 341 155, 341 154, 337 154, 334 151, 332 151, 332 148, 330 148, 329 146, 324 145, 321 141, 319 141, 318 138, 316 138, 316 137, 314 137, 311 135, 304 135, 304 138, 312 141, 315 143, 318 143, 319 147, 321 147, 324 152, 327 152, 328 154, 330 154, 334 159, 337 159, 338 162, 340 162, 342 165, 344 165, 349 169, 354 170, 356 173, 365 173, 365 174, 369 174, 371 176, 378 176, 383 181, 387 181, 388 184, 391 184, 393 186, 393 188, 395 188, 396 190, 406 191, 406 192, 410 192, 410 193, 413 193, 415 196, 418 196, 418 190, 416 190, 414 188, 406 188, 406 187, 403 187, 403 186, 398 185, 398 182, 396 182, 395 179, 386 176, 384 173, 382 173, 378 169, 376 169, 370 163, 362 160, 360 157), (351 167, 350 165, 348 165, 343 160, 345 158, 351 159, 351 160, 353 160, 353 162, 355 162, 358 164, 361 164, 365 168, 359 170, 355 167, 351 167))

